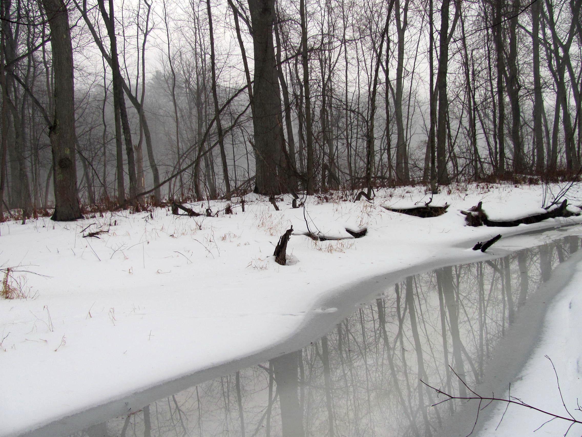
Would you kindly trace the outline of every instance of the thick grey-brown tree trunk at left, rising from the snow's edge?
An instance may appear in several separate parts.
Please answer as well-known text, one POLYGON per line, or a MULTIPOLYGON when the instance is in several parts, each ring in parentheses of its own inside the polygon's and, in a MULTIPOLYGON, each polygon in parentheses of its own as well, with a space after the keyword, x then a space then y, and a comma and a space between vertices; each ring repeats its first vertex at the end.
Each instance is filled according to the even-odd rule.
POLYGON ((52 68, 55 76, 55 117, 51 140, 55 212, 52 220, 82 218, 77 192, 74 127, 73 45, 69 13, 63 0, 42 0, 51 29, 52 68))

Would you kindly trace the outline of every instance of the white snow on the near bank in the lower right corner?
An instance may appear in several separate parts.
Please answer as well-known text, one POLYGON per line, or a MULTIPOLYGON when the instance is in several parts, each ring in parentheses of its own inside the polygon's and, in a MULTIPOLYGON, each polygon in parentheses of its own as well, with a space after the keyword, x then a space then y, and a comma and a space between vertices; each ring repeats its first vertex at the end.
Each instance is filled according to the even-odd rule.
MULTIPOLYGON (((573 277, 548 308, 541 339, 524 368, 513 379, 511 390, 496 393, 503 399, 518 398, 535 408, 582 421, 582 257, 570 266, 573 277), (554 371, 555 368, 555 371, 554 371), (557 376, 557 378, 556 378, 557 376), (560 394, 561 392, 561 394, 560 394), (502 395, 502 396, 501 396, 502 395), (562 403, 563 399, 563 403, 562 403), (567 409, 566 409, 567 408, 567 409), (572 415, 570 415, 572 414, 572 415)), ((552 417, 530 408, 510 405, 503 415, 505 403, 496 403, 494 411, 478 434, 486 436, 530 435, 552 417)), ((570 422, 556 418, 543 425, 542 435, 565 435, 570 422)), ((580 435, 582 425, 574 424, 568 435, 580 435)))

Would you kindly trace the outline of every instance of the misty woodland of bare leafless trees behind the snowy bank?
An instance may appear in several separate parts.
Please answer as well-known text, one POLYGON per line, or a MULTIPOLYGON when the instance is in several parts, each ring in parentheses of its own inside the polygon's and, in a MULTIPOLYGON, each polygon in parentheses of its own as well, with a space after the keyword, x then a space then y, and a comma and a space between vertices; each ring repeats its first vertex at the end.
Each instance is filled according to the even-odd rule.
POLYGON ((574 178, 582 0, 2 0, 0 220, 574 178))

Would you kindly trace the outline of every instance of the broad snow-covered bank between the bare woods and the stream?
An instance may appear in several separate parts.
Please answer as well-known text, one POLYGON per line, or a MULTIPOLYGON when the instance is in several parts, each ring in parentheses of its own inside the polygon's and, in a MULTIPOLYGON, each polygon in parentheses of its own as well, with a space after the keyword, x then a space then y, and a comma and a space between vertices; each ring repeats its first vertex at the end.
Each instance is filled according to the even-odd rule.
MULTIPOLYGON (((567 197, 579 205, 575 188, 567 197)), ((303 346, 288 340, 315 320, 333 320, 335 312, 346 311, 324 305, 332 297, 354 304, 377 291, 374 284, 379 289, 381 279, 393 283, 546 238, 504 238, 489 255, 471 250, 499 233, 509 237, 582 223, 582 217, 570 217, 472 228, 459 212, 482 200, 491 218, 513 219, 538 211, 543 191, 451 186, 434 197, 432 204, 450 205, 434 218, 382 208, 430 199, 422 187, 404 187, 380 191, 373 203, 353 203, 341 193, 329 202, 312 197, 304 209, 292 209, 285 197, 278 202, 280 212, 249 195, 246 212, 237 205, 235 214, 218 217, 177 217, 155 209, 74 223, 46 218, 1 223, 0 266, 31 273, 14 273, 29 298, 0 300, 0 435, 56 435, 82 428, 81 422, 136 411, 185 385, 254 364, 265 351, 274 356, 303 346), (290 265, 279 266, 272 253, 290 225, 296 233, 346 239, 319 242, 294 235, 290 265), (348 238, 346 227, 367 227, 368 233, 348 238), (98 230, 107 232, 83 238, 98 230)), ((225 205, 210 203, 213 211, 225 205)), ((192 207, 203 212, 208 204, 192 207)))

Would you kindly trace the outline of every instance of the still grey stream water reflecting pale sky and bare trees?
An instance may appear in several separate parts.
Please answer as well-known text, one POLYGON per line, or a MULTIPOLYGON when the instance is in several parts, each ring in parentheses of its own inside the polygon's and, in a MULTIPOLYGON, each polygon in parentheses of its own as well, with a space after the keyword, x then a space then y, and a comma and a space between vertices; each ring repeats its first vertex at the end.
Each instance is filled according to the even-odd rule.
POLYGON ((83 434, 431 435, 458 404, 431 407, 442 397, 419 380, 464 396, 449 365, 467 385, 480 382, 516 311, 578 246, 578 237, 566 237, 411 276, 296 353, 183 390, 83 434))

